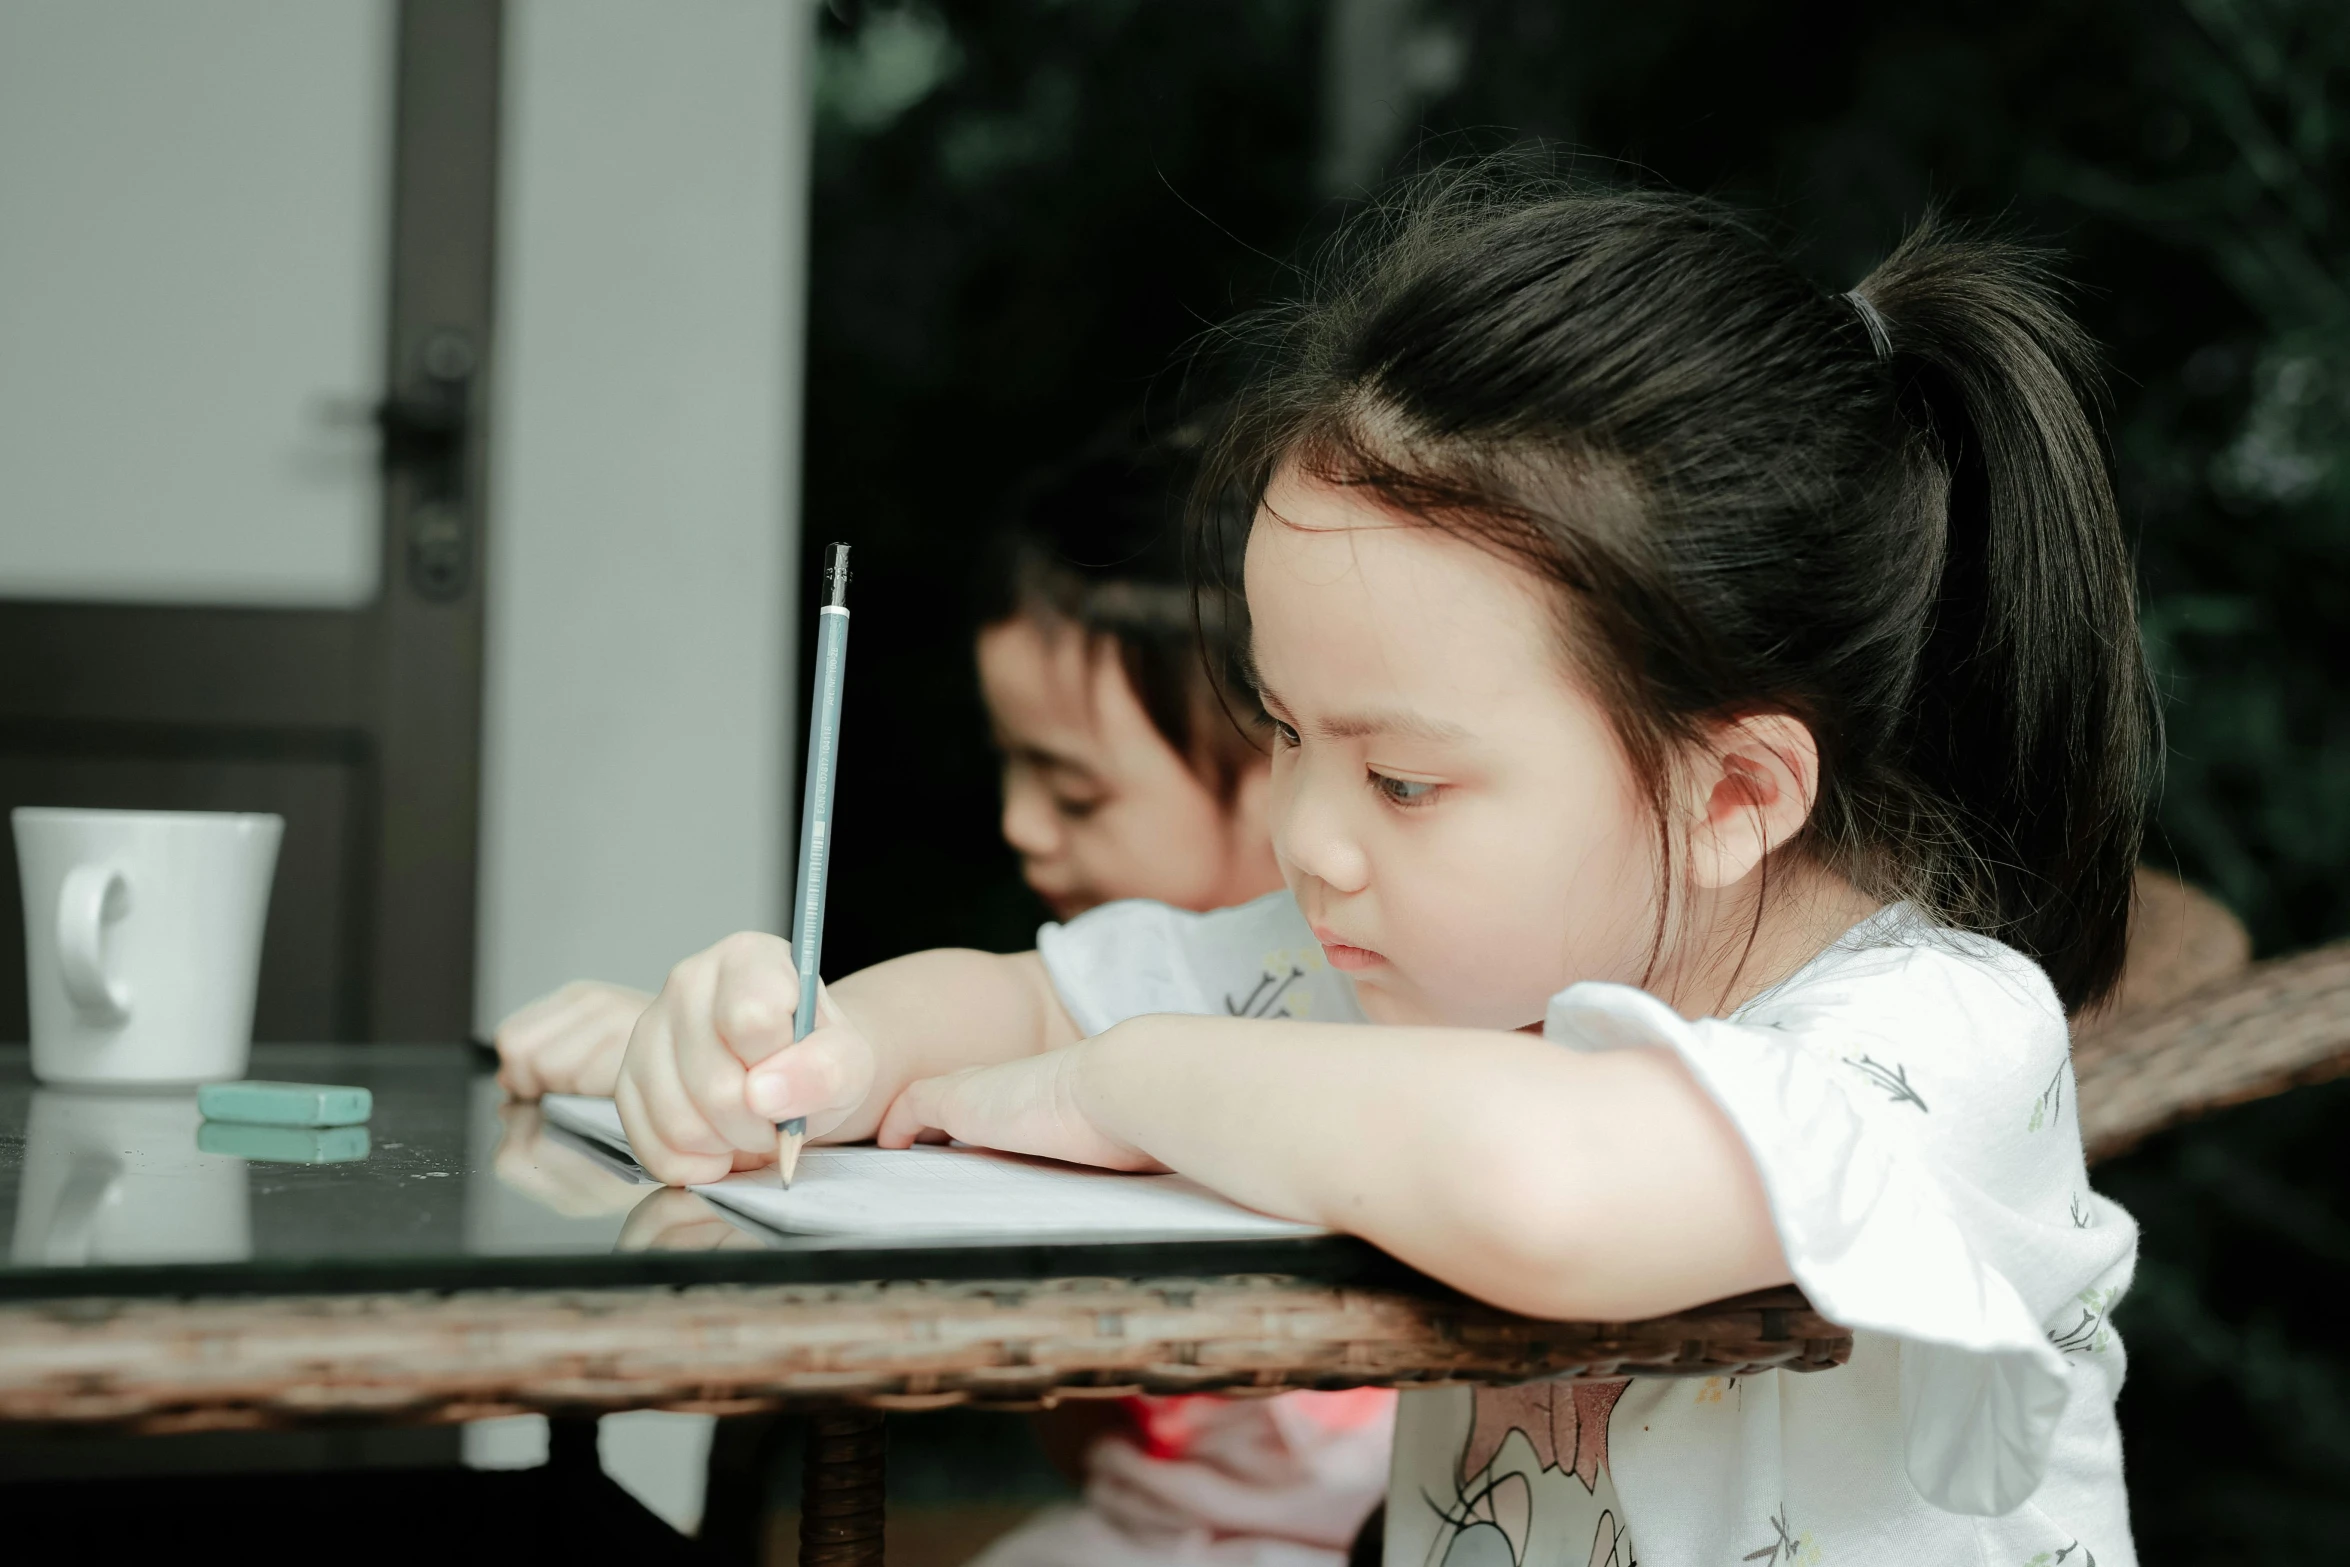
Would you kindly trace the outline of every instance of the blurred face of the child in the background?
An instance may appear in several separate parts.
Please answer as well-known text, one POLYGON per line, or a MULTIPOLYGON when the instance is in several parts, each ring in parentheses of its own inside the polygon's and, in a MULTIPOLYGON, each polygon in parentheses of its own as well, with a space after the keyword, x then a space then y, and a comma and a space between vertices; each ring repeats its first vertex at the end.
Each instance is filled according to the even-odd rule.
POLYGON ((989 625, 980 693, 1003 752, 1003 841, 1058 919, 1119 897, 1222 909, 1281 886, 1264 771, 1220 801, 1152 724, 1112 641, 1029 616, 989 625))

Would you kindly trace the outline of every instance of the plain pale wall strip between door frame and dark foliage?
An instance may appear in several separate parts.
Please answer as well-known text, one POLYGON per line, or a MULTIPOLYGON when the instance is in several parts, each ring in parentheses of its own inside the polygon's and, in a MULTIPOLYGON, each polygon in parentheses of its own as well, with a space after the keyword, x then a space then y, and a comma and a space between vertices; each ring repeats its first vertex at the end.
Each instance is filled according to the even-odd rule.
POLYGON ((515 0, 475 1027, 776 928, 808 0, 515 0))

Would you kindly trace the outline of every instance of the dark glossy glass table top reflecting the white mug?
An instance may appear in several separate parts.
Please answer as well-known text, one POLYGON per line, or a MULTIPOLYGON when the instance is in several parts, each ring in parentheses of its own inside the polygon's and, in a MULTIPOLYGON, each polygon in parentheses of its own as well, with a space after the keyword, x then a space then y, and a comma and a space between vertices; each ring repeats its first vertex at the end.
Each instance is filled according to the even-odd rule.
MULTIPOLYGON (((644 1182, 508 1102, 475 1045, 256 1045, 249 1076, 374 1092, 364 1128, 207 1123, 195 1092, 33 1081, 0 1045, 0 1299, 870 1278, 1283 1273, 1408 1283, 1361 1240, 872 1245, 644 1182)), ((1436 1290, 1429 1280, 1417 1280, 1436 1290)))

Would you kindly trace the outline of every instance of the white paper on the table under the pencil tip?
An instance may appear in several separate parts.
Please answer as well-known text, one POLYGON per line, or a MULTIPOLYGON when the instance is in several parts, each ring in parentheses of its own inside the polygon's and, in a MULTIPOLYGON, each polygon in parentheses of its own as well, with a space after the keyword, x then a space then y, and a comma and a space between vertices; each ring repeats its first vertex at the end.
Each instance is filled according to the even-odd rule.
MULTIPOLYGON (((611 1099, 548 1095, 548 1121, 627 1154, 611 1099)), ((818 1146, 799 1156, 792 1189, 773 1170, 696 1186, 747 1219, 797 1236, 872 1236, 996 1245, 1003 1240, 1257 1240, 1321 1236, 1269 1219, 1182 1175, 1116 1175, 989 1149, 818 1146)))

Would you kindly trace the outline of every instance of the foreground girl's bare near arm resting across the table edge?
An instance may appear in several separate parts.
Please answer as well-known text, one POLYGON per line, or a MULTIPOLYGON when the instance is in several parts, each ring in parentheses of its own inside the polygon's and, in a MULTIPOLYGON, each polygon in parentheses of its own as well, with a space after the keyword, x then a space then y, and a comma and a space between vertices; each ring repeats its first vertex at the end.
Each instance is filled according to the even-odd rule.
POLYGON ((1513 1311, 1636 1318, 1786 1278, 1737 1130, 1661 1050, 1140 1017, 1086 1045, 1079 1095, 1173 1170, 1513 1311))

